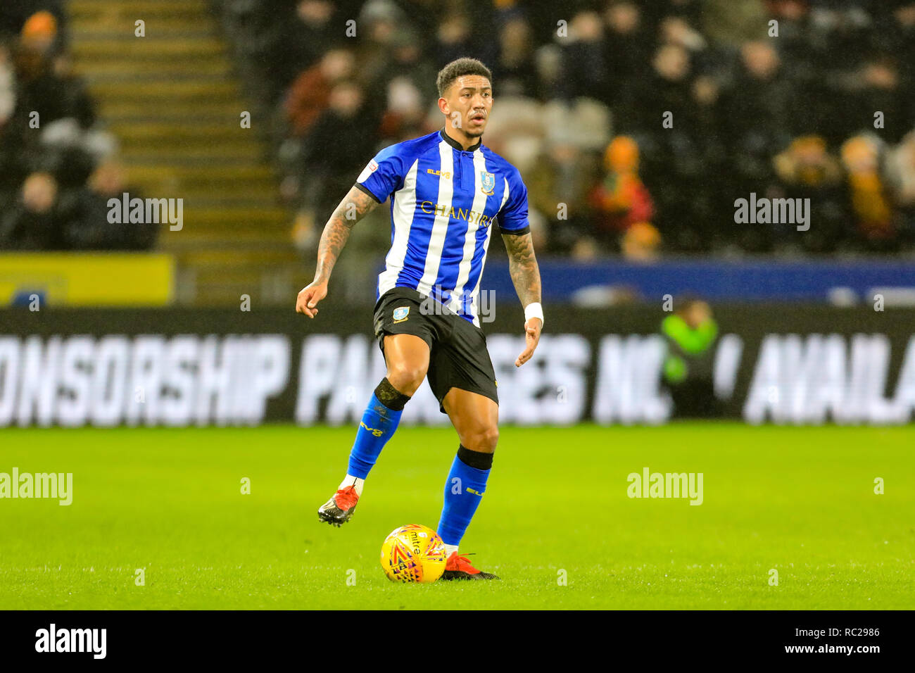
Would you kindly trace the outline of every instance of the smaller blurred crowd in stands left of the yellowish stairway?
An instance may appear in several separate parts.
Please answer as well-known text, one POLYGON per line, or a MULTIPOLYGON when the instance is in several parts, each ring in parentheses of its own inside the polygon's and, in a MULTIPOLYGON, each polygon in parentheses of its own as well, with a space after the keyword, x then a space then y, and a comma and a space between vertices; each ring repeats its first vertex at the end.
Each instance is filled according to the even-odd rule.
POLYGON ((108 223, 124 167, 72 71, 62 5, 0 7, 0 250, 149 248, 155 225, 108 223))

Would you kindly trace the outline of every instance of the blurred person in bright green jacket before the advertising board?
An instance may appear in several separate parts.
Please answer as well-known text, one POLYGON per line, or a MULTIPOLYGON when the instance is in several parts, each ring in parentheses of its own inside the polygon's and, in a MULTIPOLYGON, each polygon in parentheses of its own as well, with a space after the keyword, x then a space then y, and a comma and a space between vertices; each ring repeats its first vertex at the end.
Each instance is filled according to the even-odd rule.
POLYGON ((719 413, 714 365, 718 323, 702 299, 682 299, 661 323, 667 345, 663 382, 673 398, 673 416, 709 418, 719 413))

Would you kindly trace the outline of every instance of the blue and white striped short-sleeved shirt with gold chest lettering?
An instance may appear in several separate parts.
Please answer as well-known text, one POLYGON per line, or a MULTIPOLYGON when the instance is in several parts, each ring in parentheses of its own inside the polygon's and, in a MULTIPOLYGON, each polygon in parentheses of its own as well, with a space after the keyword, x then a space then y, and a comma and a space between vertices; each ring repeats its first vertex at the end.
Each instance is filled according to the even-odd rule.
POLYGON ((391 250, 376 299, 414 288, 479 327, 479 280, 493 222, 528 233, 527 188, 518 169, 479 141, 469 150, 445 130, 385 147, 356 187, 391 197, 391 250))

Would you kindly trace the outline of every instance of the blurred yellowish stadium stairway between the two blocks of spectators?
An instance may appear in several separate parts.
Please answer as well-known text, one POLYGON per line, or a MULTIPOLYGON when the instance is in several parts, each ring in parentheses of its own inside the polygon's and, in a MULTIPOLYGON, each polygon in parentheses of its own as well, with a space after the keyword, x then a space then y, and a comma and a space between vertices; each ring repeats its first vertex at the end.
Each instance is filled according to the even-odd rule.
POLYGON ((121 144, 130 185, 144 198, 184 200, 183 228, 163 225, 158 244, 177 260, 178 301, 290 301, 303 271, 291 216, 278 205, 266 142, 240 124, 253 110, 206 1, 67 7, 74 70, 121 144), (145 37, 135 36, 138 20, 145 37))

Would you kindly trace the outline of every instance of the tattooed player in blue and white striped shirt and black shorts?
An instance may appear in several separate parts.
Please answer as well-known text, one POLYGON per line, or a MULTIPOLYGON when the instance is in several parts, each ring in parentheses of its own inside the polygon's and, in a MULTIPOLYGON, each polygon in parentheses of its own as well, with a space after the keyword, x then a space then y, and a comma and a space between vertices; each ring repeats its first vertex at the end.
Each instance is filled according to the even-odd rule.
POLYGON ((439 409, 460 440, 437 526, 447 549, 442 579, 497 580, 458 554, 486 492, 499 439, 496 377, 478 315, 493 228, 505 242, 524 307, 525 347, 518 367, 531 359, 544 326, 540 271, 527 220, 527 188, 517 168, 482 144, 492 111, 489 69, 479 60, 454 60, 438 73, 437 86, 444 127, 385 147, 371 159, 324 227, 315 279, 296 299, 296 311, 318 315, 352 227, 390 198, 392 243, 378 277, 374 312, 387 375, 356 430, 346 477, 318 516, 335 526, 350 520, 404 406, 428 376, 439 409))

